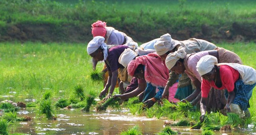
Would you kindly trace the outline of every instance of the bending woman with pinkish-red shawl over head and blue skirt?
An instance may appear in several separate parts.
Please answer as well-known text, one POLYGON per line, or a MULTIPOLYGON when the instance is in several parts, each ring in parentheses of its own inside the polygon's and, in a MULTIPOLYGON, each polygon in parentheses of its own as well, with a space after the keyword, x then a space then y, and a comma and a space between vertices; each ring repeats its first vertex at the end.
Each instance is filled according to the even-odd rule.
MULTIPOLYGON (((165 63, 162 63, 161 58, 156 53, 150 53, 144 56, 136 57, 130 61, 127 67, 128 74, 136 77, 139 80, 145 79, 147 88, 144 93, 143 102, 151 107, 156 100, 161 98, 163 88, 167 82, 169 70, 165 63), (159 92, 156 93, 156 87, 159 92)), ((175 91, 173 91, 175 93, 175 91)), ((173 102, 178 100, 172 97, 173 102)))

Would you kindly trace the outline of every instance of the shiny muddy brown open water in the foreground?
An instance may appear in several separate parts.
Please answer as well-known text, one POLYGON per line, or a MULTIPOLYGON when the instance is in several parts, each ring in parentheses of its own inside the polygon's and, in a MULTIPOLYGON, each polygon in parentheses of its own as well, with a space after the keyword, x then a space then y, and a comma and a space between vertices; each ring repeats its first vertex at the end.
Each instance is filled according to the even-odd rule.
MULTIPOLYGON (((11 98, 11 97, 10 97, 11 98)), ((3 99, 3 98, 2 98, 3 99)), ((2 100, 1 99, 1 100, 2 100)), ((24 103, 34 101, 23 99, 24 103)), ((119 135, 121 131, 138 125, 143 135, 157 135, 163 129, 164 122, 168 120, 147 118, 129 113, 129 110, 107 110, 102 112, 81 112, 80 109, 58 109, 57 120, 47 120, 36 117, 36 108, 21 108, 19 116, 28 115, 32 118, 28 122, 15 122, 9 130, 10 133, 27 133, 30 135, 119 135)), ((198 135, 202 130, 189 130, 189 126, 173 126, 183 135, 198 135)), ((232 132, 215 131, 216 135, 248 135, 250 131, 234 129, 232 132)))

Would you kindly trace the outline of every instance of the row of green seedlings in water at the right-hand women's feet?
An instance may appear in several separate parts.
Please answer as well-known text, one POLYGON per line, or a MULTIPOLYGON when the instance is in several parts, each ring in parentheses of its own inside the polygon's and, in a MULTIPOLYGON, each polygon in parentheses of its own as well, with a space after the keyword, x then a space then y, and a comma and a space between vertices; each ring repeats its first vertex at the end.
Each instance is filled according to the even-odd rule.
POLYGON ((174 104, 163 99, 160 104, 156 103, 151 108, 145 108, 145 105, 137 97, 134 97, 125 102, 124 105, 129 108, 132 115, 171 119, 172 121, 165 122, 167 128, 169 126, 190 126, 191 130, 202 129, 204 135, 212 135, 214 130, 230 132, 232 129, 248 128, 249 124, 253 124, 252 130, 256 128, 256 122, 252 120, 254 115, 249 118, 240 118, 235 113, 224 113, 223 110, 206 114, 204 121, 200 122, 199 108, 192 106, 189 102, 174 104))

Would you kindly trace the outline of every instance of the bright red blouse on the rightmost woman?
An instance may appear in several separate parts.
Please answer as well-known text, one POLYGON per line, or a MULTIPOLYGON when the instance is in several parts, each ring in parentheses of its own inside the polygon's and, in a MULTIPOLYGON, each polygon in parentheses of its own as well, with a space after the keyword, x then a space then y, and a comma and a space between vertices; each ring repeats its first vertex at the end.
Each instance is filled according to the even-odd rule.
POLYGON ((219 72, 222 84, 220 88, 215 85, 214 81, 209 82, 202 78, 202 97, 208 97, 211 87, 219 90, 227 89, 228 92, 232 92, 234 90, 234 84, 239 79, 239 72, 228 65, 221 65, 219 72))

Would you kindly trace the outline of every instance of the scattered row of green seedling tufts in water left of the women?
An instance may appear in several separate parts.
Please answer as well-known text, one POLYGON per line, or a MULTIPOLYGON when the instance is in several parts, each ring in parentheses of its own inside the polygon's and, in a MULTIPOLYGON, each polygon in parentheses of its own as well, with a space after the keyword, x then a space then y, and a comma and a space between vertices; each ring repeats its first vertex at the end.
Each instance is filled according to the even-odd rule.
MULTIPOLYGON (((96 105, 96 110, 106 110, 108 106, 111 106, 113 109, 119 109, 120 105, 117 101, 120 99, 110 98, 108 100, 102 100, 97 104, 96 93, 89 91, 88 94, 84 94, 84 89, 82 85, 76 85, 70 97, 60 98, 56 103, 52 102, 52 92, 46 91, 42 98, 36 102, 30 102, 27 104, 12 101, 3 101, 0 103, 0 111, 4 112, 0 117, 0 135, 9 135, 8 129, 15 122, 19 121, 31 121, 31 118, 28 116, 18 117, 17 112, 20 110, 20 107, 35 107, 37 117, 45 115, 46 119, 56 120, 57 113, 56 109, 58 108, 81 108, 82 112, 89 112, 92 105, 96 105), (20 106, 20 107, 19 107, 20 106)), ((11 135, 27 135, 22 133, 15 133, 11 135)))

